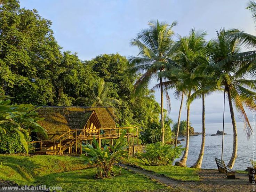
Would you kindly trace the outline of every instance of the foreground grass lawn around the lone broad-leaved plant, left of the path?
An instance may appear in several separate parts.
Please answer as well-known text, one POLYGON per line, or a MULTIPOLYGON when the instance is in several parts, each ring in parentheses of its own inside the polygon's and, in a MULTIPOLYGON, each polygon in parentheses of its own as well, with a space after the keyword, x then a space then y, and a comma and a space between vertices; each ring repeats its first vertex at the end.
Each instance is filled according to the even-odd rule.
MULTIPOLYGON (((117 173, 119 173, 119 168, 117 168, 117 173)), ((46 186, 62 186, 63 192, 153 191, 167 188, 164 185, 151 181, 144 176, 133 174, 125 169, 122 169, 120 176, 110 179, 94 179, 94 175, 95 170, 93 168, 69 171, 41 177, 40 183, 46 186)))

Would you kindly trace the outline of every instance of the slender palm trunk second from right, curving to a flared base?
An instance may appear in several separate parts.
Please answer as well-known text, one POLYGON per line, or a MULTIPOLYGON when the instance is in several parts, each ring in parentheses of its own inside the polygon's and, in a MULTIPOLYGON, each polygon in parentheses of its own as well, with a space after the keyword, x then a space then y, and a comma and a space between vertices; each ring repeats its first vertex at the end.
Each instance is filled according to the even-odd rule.
POLYGON ((205 94, 202 94, 202 143, 201 143, 201 150, 198 156, 197 161, 192 166, 192 168, 201 168, 202 161, 203 161, 203 153, 205 151, 205 94))

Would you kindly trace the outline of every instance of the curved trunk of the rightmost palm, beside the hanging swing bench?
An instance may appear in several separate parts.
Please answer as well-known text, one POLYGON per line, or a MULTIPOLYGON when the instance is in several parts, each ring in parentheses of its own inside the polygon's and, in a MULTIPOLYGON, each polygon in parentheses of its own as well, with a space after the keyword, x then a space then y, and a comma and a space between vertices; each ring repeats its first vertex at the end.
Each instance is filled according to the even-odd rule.
POLYGON ((235 115, 234 115, 234 110, 233 110, 229 87, 227 88, 227 96, 229 98, 229 109, 230 109, 231 120, 232 120, 232 125, 233 125, 233 152, 232 152, 231 159, 229 160, 229 163, 227 164, 227 166, 232 168, 234 166, 235 159, 237 158, 237 125, 235 123, 235 115))

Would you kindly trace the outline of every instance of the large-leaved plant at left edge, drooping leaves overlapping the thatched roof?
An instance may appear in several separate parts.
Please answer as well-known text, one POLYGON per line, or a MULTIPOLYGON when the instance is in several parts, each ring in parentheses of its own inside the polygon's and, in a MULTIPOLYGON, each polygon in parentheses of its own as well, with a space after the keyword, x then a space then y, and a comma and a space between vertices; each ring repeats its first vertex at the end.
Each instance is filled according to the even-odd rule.
POLYGON ((17 133, 20 141, 28 153, 27 139, 31 132, 37 132, 47 137, 45 129, 43 129, 38 121, 40 118, 35 107, 31 104, 11 104, 10 96, 0 96, 0 138, 3 134, 17 133))

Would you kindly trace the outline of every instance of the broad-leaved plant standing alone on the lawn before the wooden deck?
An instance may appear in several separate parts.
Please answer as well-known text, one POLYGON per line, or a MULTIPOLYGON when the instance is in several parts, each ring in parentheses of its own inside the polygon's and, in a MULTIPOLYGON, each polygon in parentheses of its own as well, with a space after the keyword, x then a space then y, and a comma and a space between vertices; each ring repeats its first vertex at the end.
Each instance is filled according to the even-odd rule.
POLYGON ((114 145, 109 145, 110 150, 107 145, 105 145, 104 149, 101 149, 95 138, 93 139, 93 144, 96 148, 90 144, 83 147, 86 154, 82 155, 82 157, 85 159, 86 164, 96 166, 96 178, 102 179, 114 176, 114 163, 128 157, 124 139, 125 134, 124 132, 114 145))

